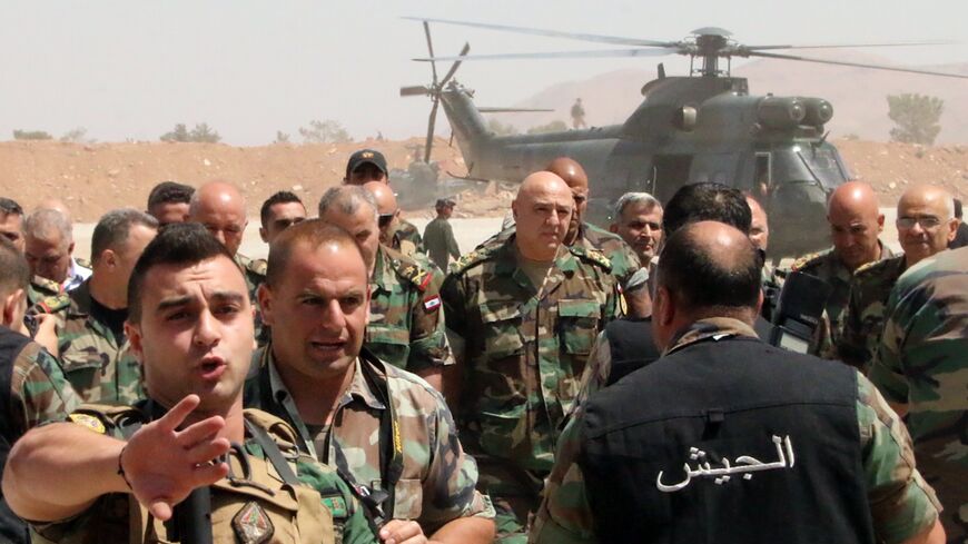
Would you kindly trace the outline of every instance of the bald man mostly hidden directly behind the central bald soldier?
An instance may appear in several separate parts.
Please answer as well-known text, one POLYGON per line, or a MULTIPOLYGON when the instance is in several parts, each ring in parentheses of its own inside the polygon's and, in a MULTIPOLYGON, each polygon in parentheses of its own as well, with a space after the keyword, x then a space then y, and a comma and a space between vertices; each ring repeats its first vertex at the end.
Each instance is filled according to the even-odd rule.
MULTIPOLYGON (((604 255, 612 265, 612 274, 619 278, 619 285, 624 286, 643 264, 621 237, 583 220, 589 208, 589 176, 585 169, 570 157, 559 157, 549 162, 544 169, 564 180, 574 199, 574 212, 562 240, 564 245, 604 255)), ((515 230, 516 227, 506 228, 481 247, 501 245, 515 230)))

